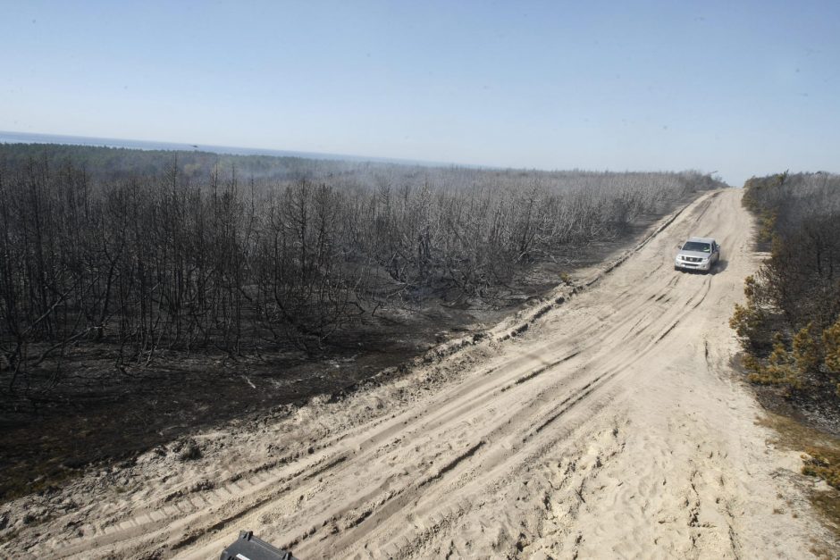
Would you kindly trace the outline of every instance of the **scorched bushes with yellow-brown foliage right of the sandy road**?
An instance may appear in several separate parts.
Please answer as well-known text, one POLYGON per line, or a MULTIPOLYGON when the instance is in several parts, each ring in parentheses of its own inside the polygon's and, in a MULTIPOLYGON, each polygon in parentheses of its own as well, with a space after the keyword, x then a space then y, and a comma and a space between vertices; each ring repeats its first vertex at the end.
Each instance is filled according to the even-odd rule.
POLYGON ((753 178, 743 205, 759 219, 770 257, 746 279, 730 324, 750 379, 792 395, 840 397, 840 176, 753 178))

